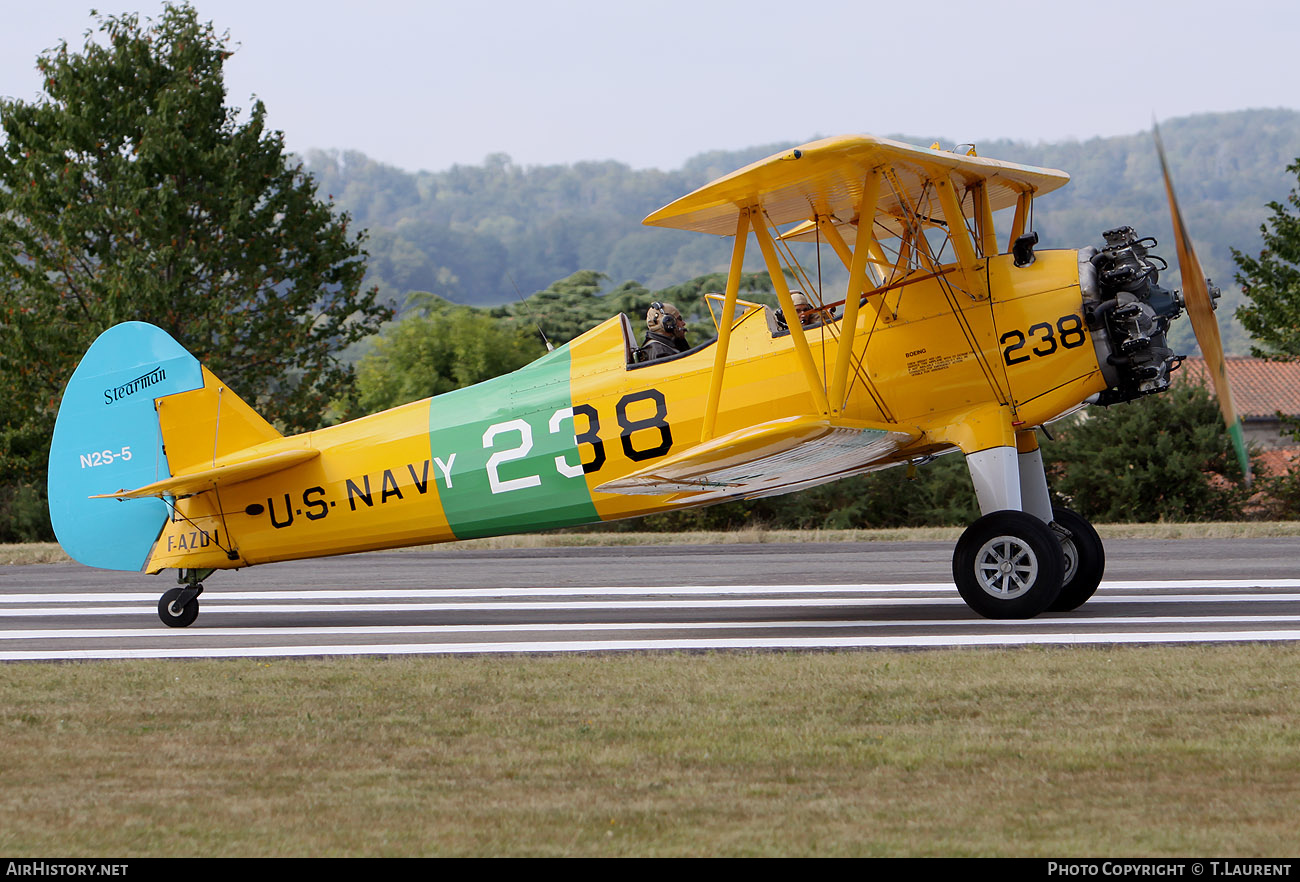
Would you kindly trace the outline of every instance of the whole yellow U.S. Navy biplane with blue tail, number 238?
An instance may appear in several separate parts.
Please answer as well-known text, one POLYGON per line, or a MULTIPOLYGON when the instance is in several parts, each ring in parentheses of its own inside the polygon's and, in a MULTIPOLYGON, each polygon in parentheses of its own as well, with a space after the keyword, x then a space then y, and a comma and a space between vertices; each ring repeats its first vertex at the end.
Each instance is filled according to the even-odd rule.
POLYGON ((961 596, 992 618, 1074 609, 1105 552, 1053 506, 1035 429, 1166 389, 1184 297, 1219 379, 1222 347, 1173 190, 1184 297, 1127 226, 1100 248, 1035 250, 1034 199, 1067 181, 974 150, 818 140, 645 220, 733 237, 714 340, 638 362, 616 315, 514 373, 292 437, 165 332, 116 325, 64 394, 55 531, 90 566, 178 570, 159 615, 182 627, 214 570, 788 493, 956 450, 983 515, 953 555, 961 596), (750 237, 783 315, 789 242, 829 246, 845 295, 816 298, 811 327, 741 301, 750 237))

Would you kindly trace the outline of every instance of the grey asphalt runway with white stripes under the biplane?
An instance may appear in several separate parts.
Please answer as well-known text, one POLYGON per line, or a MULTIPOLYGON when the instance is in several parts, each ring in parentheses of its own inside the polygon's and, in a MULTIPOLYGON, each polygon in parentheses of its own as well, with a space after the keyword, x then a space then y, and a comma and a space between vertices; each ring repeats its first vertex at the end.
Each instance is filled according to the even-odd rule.
POLYGON ((359 554, 173 576, 0 567, 0 661, 1300 640, 1300 540, 1112 540, 1096 597, 992 622, 948 542, 359 554))

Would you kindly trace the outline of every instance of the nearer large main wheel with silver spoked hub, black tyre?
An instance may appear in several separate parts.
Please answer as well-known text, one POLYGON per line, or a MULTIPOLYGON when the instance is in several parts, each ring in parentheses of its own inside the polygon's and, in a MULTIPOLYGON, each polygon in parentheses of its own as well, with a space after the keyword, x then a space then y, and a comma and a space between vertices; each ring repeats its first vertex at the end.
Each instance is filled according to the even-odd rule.
POLYGON ((957 540, 953 581, 966 605, 991 619, 1028 619, 1061 593, 1065 554, 1057 533, 1023 511, 994 511, 957 540))

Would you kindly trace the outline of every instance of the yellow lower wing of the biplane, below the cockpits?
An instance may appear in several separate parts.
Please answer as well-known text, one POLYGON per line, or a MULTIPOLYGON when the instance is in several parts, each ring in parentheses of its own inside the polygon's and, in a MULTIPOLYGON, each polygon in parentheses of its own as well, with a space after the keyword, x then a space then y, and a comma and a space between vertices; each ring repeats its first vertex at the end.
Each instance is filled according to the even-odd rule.
POLYGON ((862 471, 919 433, 892 424, 797 416, 738 429, 608 481, 601 493, 772 496, 862 471))

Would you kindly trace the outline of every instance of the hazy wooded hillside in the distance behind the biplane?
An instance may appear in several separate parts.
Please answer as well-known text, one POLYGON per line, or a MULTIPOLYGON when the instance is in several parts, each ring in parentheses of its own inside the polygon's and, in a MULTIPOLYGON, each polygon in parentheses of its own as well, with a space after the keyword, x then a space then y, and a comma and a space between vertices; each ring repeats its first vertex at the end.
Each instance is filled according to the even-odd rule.
MULTIPOLYGON (((1208 113, 1161 124, 1183 213, 1205 267, 1223 289, 1230 353, 1245 354, 1245 334, 1226 319, 1240 303, 1231 248, 1256 254, 1270 200, 1295 185, 1286 167, 1300 154, 1300 112, 1208 113)), ((828 133, 829 134, 829 133, 828 133)), ((838 134, 838 133, 833 133, 838 134)), ((820 135, 810 135, 809 140, 820 135)), ((887 135, 928 144, 935 137, 887 135)), ((952 137, 937 138, 952 146, 952 137)), ((662 172, 621 163, 520 168, 506 155, 443 172, 404 172, 356 152, 309 152, 304 161, 322 195, 370 230, 370 276, 399 304, 415 290, 490 306, 529 294, 578 269, 637 280, 651 290, 725 269, 725 239, 649 229, 655 208, 746 163, 798 142, 744 151, 703 152, 662 172)), ((976 144, 982 156, 1067 170, 1070 186, 1036 204, 1040 247, 1101 242, 1101 232, 1128 224, 1161 241, 1175 263, 1169 213, 1150 133, 1084 142, 976 144)), ((805 259, 805 258, 801 258, 805 259)), ((815 255, 809 251, 809 265, 815 255)), ((828 276, 838 278, 823 259, 828 276)), ((751 260, 751 269, 759 261, 751 260)), ((1166 284, 1180 286, 1176 272, 1166 284)), ((1190 329, 1175 338, 1188 347, 1190 329)))

